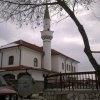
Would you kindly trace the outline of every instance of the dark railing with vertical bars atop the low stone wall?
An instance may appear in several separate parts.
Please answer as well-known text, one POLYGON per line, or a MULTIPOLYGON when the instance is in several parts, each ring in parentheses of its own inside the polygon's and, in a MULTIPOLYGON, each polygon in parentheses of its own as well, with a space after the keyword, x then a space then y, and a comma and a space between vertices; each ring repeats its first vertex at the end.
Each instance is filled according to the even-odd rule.
POLYGON ((100 71, 44 75, 44 89, 99 89, 100 71))

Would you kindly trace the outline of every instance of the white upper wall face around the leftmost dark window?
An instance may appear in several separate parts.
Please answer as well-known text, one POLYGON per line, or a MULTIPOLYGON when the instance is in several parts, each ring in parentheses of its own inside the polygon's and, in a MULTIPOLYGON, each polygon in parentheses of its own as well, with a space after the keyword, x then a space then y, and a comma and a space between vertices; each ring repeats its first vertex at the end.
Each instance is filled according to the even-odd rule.
POLYGON ((19 65, 20 52, 19 52, 18 47, 3 49, 1 52, 3 52, 3 61, 2 61, 3 67, 12 67, 12 66, 18 66, 19 65), (8 65, 9 56, 14 56, 13 65, 8 65))

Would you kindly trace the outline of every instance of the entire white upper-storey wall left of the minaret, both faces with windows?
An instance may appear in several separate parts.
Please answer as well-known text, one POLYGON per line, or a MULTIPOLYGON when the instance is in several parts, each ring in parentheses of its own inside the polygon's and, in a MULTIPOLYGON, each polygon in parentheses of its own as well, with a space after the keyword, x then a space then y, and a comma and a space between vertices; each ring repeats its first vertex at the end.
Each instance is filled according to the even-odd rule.
MULTIPOLYGON (((12 66, 19 66, 20 60, 20 50, 18 47, 3 49, 3 67, 12 67, 12 66), (9 56, 14 56, 14 63, 13 65, 8 65, 9 56)), ((34 51, 32 49, 21 47, 21 65, 34 67, 34 58, 38 59, 38 67, 41 68, 41 56, 40 52, 34 51)), ((1 53, 0 53, 0 66, 1 66, 1 53)))

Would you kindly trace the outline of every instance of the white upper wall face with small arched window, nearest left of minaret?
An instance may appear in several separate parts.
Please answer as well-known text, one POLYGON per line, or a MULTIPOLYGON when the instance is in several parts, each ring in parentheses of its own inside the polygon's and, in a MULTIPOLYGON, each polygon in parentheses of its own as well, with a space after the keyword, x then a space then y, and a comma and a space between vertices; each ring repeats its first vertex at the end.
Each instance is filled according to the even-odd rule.
POLYGON ((34 67, 34 58, 38 59, 38 67, 41 68, 41 56, 42 54, 40 52, 34 51, 32 49, 22 47, 21 52, 21 65, 34 67))

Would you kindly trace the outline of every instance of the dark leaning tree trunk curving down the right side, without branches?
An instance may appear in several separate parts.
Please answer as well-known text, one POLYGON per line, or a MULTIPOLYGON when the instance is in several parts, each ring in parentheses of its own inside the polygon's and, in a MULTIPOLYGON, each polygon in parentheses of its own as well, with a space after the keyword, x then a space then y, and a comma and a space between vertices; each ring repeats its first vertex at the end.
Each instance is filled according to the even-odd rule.
POLYGON ((72 18, 72 20, 75 22, 81 36, 84 42, 84 52, 86 53, 90 63, 92 64, 93 68, 97 71, 100 70, 98 63, 96 62, 95 58, 92 55, 92 52, 90 50, 90 45, 88 41, 88 37, 86 35, 86 32, 84 30, 84 27, 80 24, 78 19, 76 18, 74 12, 67 6, 67 4, 64 1, 57 0, 59 5, 69 14, 69 16, 72 18))

